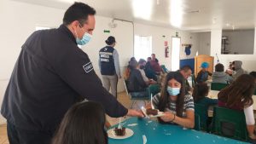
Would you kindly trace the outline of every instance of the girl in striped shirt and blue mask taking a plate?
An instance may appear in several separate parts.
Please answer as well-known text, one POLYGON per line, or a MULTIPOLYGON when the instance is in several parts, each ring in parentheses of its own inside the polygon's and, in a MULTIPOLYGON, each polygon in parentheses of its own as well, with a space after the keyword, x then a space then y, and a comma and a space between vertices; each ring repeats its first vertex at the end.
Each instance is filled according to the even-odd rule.
MULTIPOLYGON (((180 72, 169 72, 160 94, 154 95, 154 108, 164 112, 164 116, 158 118, 161 124, 178 124, 185 128, 194 128, 194 101, 192 95, 186 94, 184 81, 180 72)), ((149 103, 147 108, 150 107, 149 103)))

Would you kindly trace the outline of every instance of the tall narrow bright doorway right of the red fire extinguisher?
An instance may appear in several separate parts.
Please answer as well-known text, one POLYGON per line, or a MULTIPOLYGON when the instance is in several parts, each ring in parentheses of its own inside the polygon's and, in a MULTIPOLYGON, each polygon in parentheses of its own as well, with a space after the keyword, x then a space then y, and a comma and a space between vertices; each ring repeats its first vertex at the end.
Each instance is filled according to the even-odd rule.
POLYGON ((180 37, 172 37, 172 71, 179 69, 180 37))

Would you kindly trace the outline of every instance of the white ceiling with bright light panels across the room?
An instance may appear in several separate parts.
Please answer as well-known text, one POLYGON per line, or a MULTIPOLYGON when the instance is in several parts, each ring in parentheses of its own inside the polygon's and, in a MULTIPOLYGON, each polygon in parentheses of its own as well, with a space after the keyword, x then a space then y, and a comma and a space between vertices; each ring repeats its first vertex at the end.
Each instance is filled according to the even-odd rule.
MULTIPOLYGON (((73 0, 15 0, 67 9, 73 0)), ((102 16, 189 31, 255 27, 256 0, 79 0, 102 16)))

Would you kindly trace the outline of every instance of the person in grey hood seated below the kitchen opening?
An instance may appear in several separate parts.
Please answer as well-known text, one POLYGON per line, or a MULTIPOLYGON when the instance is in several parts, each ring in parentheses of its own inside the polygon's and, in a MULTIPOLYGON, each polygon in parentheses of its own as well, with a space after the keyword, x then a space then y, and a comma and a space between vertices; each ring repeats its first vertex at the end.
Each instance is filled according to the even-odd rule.
POLYGON ((233 72, 229 72, 228 74, 232 75, 235 80, 242 74, 246 74, 247 72, 241 68, 242 62, 241 60, 235 60, 232 62, 232 70, 233 72))

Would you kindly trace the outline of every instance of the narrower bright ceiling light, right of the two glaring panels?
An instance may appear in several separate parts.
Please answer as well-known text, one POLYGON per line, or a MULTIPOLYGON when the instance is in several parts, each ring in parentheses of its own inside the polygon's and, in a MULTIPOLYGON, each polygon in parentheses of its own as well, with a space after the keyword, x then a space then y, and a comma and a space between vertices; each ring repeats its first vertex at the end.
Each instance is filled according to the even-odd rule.
POLYGON ((180 27, 183 20, 182 0, 171 0, 171 25, 180 27))

